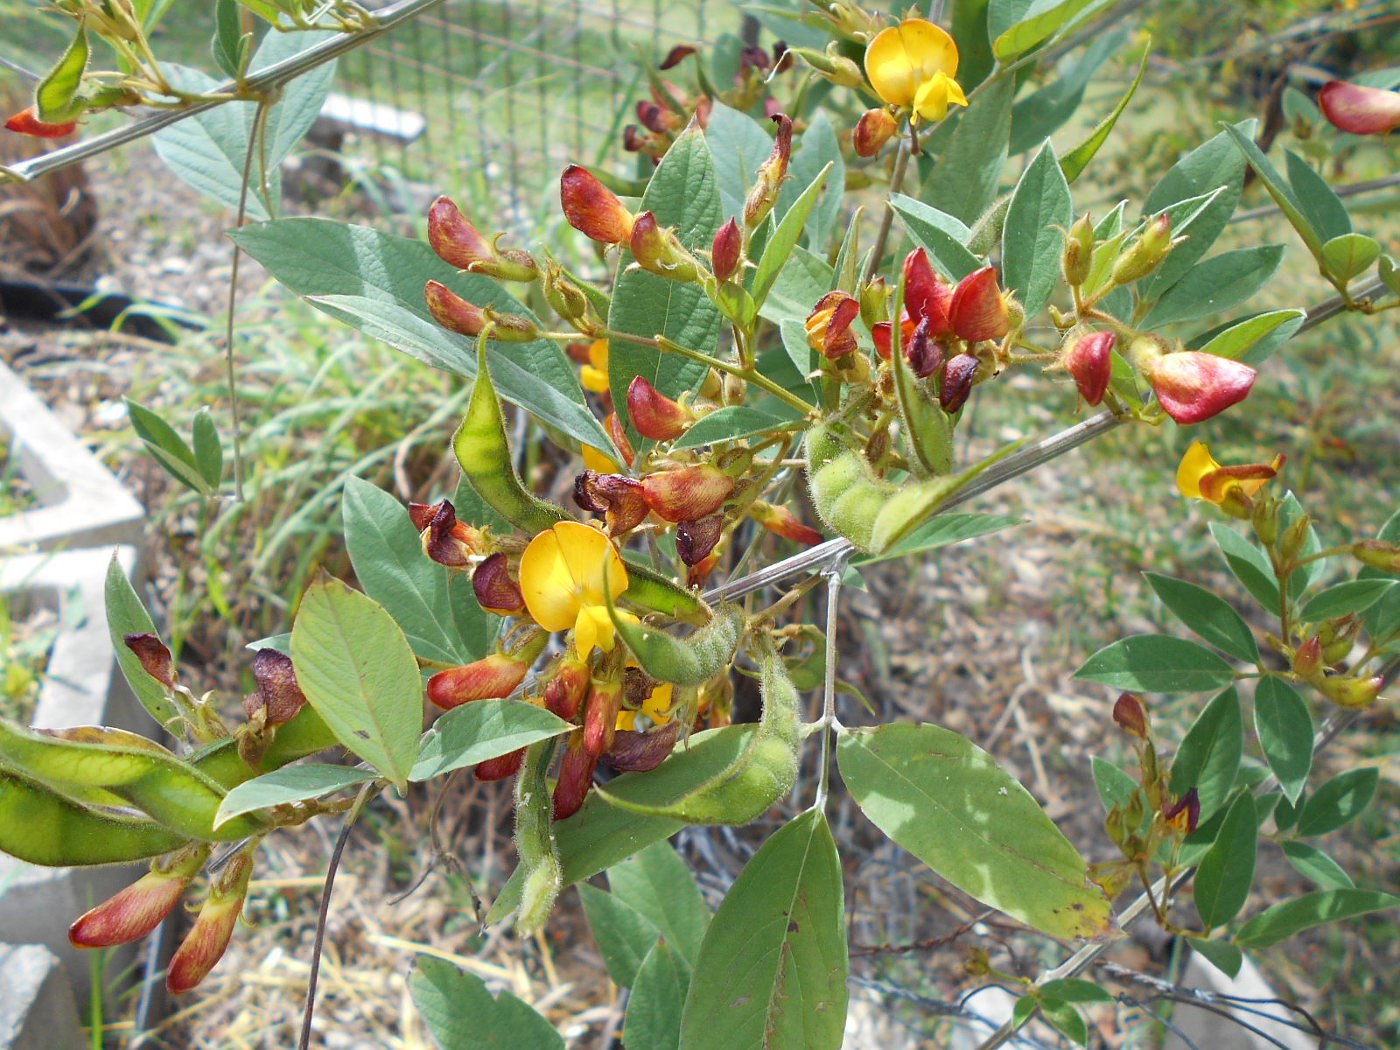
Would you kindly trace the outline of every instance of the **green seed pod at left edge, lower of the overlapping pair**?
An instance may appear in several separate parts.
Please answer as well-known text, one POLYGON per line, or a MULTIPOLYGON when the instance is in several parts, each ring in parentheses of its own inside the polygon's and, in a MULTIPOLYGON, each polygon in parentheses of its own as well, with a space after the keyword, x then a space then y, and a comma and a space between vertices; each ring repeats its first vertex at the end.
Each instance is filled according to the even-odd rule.
POLYGON ((130 864, 186 841, 154 820, 95 813, 42 784, 0 773, 0 853, 21 861, 48 868, 130 864))

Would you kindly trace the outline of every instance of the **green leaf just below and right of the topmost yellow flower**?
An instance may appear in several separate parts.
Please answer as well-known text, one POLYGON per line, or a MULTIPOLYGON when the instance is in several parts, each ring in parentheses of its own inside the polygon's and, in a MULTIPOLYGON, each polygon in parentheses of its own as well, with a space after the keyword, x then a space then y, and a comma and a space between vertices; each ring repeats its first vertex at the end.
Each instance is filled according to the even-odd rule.
POLYGON ((983 83, 970 99, 973 105, 958 115, 952 136, 924 179, 920 200, 963 223, 976 223, 995 200, 1007 165, 1015 81, 1004 76, 983 83))

